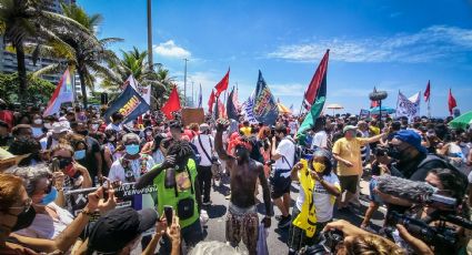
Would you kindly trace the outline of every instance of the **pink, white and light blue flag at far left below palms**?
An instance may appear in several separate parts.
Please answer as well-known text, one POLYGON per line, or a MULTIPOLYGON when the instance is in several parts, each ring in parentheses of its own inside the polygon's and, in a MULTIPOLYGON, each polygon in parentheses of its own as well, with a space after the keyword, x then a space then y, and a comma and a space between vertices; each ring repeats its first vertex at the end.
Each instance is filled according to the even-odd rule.
POLYGON ((61 104, 66 102, 73 102, 73 88, 72 79, 70 76, 69 69, 66 69, 61 80, 59 80, 58 86, 56 86, 51 99, 48 102, 48 106, 44 110, 43 116, 49 116, 58 113, 61 104))

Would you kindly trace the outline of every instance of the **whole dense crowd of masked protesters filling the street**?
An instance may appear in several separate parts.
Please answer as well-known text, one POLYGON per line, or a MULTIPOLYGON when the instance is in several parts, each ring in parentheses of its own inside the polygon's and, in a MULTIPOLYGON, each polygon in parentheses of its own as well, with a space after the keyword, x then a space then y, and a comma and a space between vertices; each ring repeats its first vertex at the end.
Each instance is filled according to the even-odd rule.
POLYGON ((272 223, 288 233, 278 254, 466 254, 472 128, 451 130, 451 119, 322 115, 299 132, 302 119, 289 115, 274 125, 102 115, 76 106, 43 116, 0 101, 0 254, 238 254, 241 242, 264 254, 260 226, 272 223), (433 198, 385 192, 385 176, 433 198), (225 243, 204 235, 215 182, 229 185, 225 243), (154 186, 153 208, 121 206, 125 183, 154 186), (66 193, 84 188, 87 205, 68 211, 66 193))

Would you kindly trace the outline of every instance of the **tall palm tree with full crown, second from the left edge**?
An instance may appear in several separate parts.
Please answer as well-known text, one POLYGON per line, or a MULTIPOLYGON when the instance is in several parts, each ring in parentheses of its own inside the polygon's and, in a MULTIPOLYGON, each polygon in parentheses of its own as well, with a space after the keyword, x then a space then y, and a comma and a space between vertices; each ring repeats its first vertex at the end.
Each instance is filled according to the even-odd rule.
MULTIPOLYGON (((77 69, 80 79, 80 88, 82 92, 82 103, 87 108, 87 89, 94 90, 94 74, 100 73, 112 80, 118 78, 104 64, 108 60, 117 59, 111 50, 107 50, 107 45, 112 42, 122 41, 119 38, 97 39, 96 28, 102 21, 100 14, 89 16, 81 7, 77 4, 67 6, 61 3, 63 13, 77 23, 80 23, 86 33, 70 33, 64 31, 62 27, 56 27, 54 32, 63 40, 69 48, 63 45, 51 45, 49 52, 54 52, 66 59, 64 62, 51 64, 44 69, 38 70, 34 74, 57 72, 64 69, 64 64, 77 69)), ((44 48, 46 49, 46 48, 44 48)))

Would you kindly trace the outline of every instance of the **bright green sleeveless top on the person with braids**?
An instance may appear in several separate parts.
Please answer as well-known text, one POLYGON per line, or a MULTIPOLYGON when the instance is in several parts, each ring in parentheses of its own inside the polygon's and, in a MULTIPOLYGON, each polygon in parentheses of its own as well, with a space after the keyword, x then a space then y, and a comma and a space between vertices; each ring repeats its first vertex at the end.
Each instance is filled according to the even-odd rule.
POLYGON ((195 182, 197 182, 197 166, 195 162, 190 159, 187 163, 187 167, 190 172, 190 180, 189 174, 187 171, 182 171, 181 173, 175 172, 175 183, 178 186, 178 196, 175 196, 175 188, 165 187, 165 173, 168 170, 163 170, 155 178, 154 178, 154 185, 158 187, 158 212, 160 215, 164 212, 164 205, 170 205, 173 207, 173 210, 177 213, 177 204, 180 200, 191 197, 194 201, 193 206, 193 216, 187 218, 187 220, 180 220, 180 227, 185 227, 191 224, 193 224, 197 220, 200 218, 200 213, 198 212, 198 205, 195 200, 195 182), (193 194, 192 194, 193 188, 193 194))

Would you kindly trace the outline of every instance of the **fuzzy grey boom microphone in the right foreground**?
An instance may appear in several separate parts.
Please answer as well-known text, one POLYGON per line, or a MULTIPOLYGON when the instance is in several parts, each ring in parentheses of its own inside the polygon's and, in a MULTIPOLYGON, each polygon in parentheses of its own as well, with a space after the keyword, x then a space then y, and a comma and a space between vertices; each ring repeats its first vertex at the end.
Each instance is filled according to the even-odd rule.
POLYGON ((381 175, 376 177, 378 190, 400 198, 419 204, 442 204, 448 207, 455 206, 456 200, 436 194, 439 188, 425 182, 414 182, 392 175, 381 175))

